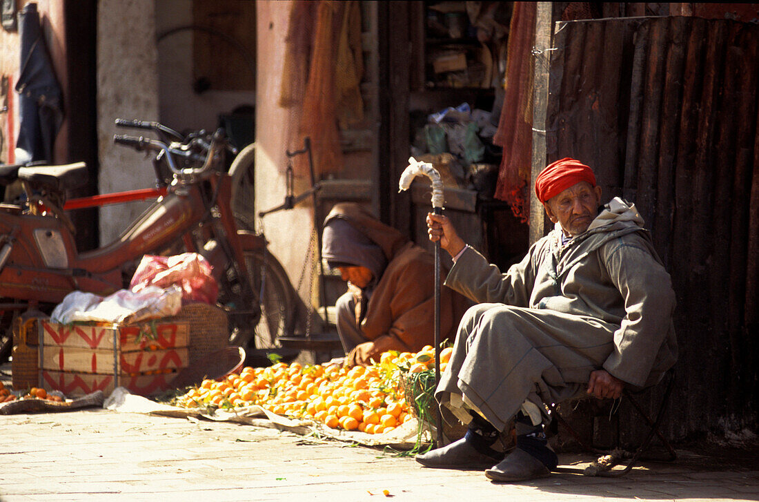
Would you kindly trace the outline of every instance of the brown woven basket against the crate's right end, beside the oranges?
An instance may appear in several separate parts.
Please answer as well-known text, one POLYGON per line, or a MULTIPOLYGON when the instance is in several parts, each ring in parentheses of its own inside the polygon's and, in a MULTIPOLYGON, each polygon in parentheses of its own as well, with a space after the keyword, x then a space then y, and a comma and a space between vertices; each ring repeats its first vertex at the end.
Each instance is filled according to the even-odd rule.
POLYGON ((171 320, 190 324, 190 343, 187 348, 190 367, 206 355, 229 345, 227 314, 215 305, 207 303, 184 305, 171 320))

